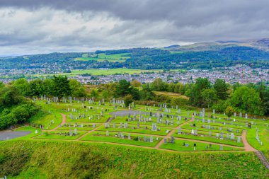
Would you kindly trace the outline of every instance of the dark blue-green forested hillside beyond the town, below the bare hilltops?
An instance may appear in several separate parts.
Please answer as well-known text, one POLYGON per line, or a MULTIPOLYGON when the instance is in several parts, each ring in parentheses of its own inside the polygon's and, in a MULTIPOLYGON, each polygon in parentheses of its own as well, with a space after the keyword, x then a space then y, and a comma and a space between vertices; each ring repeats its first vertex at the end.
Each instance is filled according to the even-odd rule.
MULTIPOLYGON (((88 52, 86 52, 88 53, 88 52)), ((84 53, 35 54, 21 57, 1 57, 0 69, 48 68, 71 72, 71 69, 130 68, 130 69, 212 69, 246 64, 249 67, 269 67, 269 52, 252 47, 227 47, 222 50, 173 53, 155 48, 96 51, 95 54, 128 53, 126 62, 99 62, 94 59, 76 61, 84 53)), ((88 53, 93 54, 93 53, 88 53)))

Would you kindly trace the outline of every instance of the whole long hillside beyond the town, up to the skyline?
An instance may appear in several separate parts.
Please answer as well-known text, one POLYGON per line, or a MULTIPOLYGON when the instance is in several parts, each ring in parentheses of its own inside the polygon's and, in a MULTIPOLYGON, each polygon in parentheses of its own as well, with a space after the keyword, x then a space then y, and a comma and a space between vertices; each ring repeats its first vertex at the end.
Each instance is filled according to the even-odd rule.
POLYGON ((0 69, 31 69, 51 74, 71 69, 215 69, 232 67, 236 64, 245 64, 252 68, 268 68, 269 38, 198 42, 163 48, 33 54, 0 57, 0 62, 0 69), (112 57, 118 60, 111 60, 112 57))

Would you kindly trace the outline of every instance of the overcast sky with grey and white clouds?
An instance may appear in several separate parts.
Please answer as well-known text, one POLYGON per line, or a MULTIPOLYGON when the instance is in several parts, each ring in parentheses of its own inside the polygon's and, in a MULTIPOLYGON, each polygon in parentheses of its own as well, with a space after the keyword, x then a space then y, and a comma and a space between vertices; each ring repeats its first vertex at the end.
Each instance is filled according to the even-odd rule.
POLYGON ((0 55, 269 37, 268 0, 0 0, 0 55))

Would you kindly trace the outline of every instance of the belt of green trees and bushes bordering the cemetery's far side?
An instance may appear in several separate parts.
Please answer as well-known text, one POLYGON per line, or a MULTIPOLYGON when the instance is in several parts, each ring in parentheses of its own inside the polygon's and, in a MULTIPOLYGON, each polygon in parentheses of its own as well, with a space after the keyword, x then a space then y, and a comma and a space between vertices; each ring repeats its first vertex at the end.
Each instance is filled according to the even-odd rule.
POLYGON ((199 78, 195 83, 166 83, 155 79, 153 83, 141 84, 139 81, 120 80, 118 83, 105 83, 98 86, 83 86, 79 81, 65 76, 52 79, 35 79, 27 81, 18 79, 9 84, 0 85, 0 129, 27 122, 28 118, 38 112, 38 107, 28 98, 46 95, 94 100, 112 98, 125 100, 127 107, 135 103, 152 105, 167 103, 168 106, 180 105, 182 108, 210 108, 217 112, 243 112, 252 115, 269 115, 269 88, 264 83, 230 85, 223 79, 210 83, 208 79, 199 78), (160 95, 158 91, 164 92, 160 95), (177 96, 166 95, 170 92, 177 96))

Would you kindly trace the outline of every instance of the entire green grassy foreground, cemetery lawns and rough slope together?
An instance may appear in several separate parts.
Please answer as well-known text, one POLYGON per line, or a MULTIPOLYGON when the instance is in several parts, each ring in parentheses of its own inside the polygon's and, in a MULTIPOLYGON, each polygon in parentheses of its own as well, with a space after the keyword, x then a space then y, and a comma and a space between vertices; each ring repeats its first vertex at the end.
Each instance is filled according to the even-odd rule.
POLYGON ((164 104, 125 108, 120 100, 63 101, 38 98, 35 103, 42 110, 30 119, 30 126, 16 129, 32 133, 0 142, 0 166, 8 178, 268 178, 253 153, 263 151, 268 157, 268 120, 244 115, 228 120, 224 114, 164 104), (19 149, 18 144, 25 147, 19 149), (17 158, 16 150, 27 157, 26 164, 14 166, 18 173, 13 175, 6 158, 17 158), (96 168, 87 165, 77 168, 80 173, 71 172, 79 167, 71 163, 88 161, 82 155, 93 158, 96 168), (103 160, 108 163, 98 163, 103 160), (61 167, 52 169, 54 165, 61 167))

